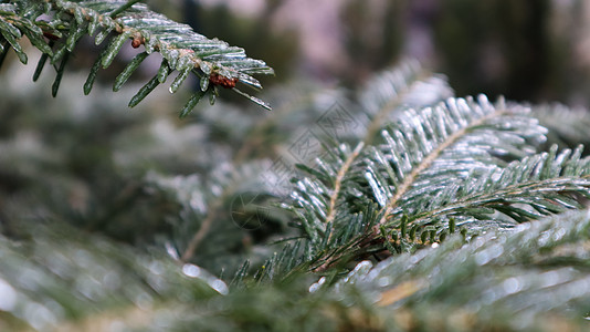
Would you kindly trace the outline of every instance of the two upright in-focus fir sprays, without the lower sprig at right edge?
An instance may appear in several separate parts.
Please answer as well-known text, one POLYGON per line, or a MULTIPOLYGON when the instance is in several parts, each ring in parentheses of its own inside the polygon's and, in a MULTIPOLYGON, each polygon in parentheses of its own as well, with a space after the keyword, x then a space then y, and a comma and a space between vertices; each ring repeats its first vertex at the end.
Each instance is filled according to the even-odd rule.
POLYGON ((528 110, 507 107, 503 101, 493 105, 485 96, 478 102, 450 98, 397 118, 382 132, 386 144, 378 148, 369 146, 360 155, 338 147, 317 160, 319 168, 299 166, 310 177, 297 183, 291 210, 310 241, 315 271, 391 243, 396 248, 388 249, 400 252, 443 239, 454 231, 440 221, 419 227, 412 220, 457 199, 463 181, 486 178, 507 162, 531 154, 546 133, 528 110), (371 193, 373 201, 367 199, 371 193), (359 209, 373 203, 380 208, 359 209), (405 222, 400 222, 402 214, 408 215, 405 222), (409 229, 400 235, 393 232, 398 227, 409 229), (384 239, 389 236, 391 243, 384 239))

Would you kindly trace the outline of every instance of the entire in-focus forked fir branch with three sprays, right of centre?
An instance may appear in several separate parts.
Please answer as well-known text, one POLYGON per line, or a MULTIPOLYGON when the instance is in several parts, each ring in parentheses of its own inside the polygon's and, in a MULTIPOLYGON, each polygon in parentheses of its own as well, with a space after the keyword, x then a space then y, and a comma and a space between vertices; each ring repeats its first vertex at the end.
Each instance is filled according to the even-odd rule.
POLYGON ((453 232, 581 208, 588 162, 581 149, 558 154, 557 146, 533 155, 546 133, 528 108, 450 98, 398 113, 382 131, 386 144, 335 148, 319 169, 302 166, 309 176, 291 210, 309 240, 309 267, 326 271, 383 249, 413 251, 453 232), (379 209, 359 209, 372 204, 379 209))

